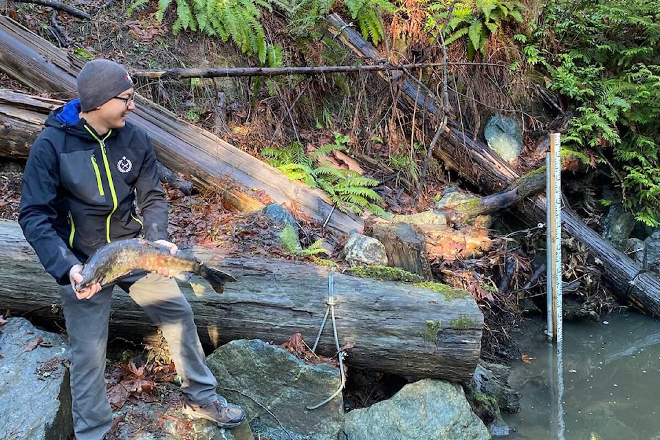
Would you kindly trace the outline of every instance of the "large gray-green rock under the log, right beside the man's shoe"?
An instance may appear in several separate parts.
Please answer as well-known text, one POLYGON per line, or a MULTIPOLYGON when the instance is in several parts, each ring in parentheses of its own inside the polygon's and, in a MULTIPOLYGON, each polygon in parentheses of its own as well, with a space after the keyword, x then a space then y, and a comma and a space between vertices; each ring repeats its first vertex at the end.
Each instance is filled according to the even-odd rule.
POLYGON ((274 440, 337 439, 344 424, 342 394, 318 409, 306 408, 339 388, 340 373, 333 366, 305 364, 261 340, 234 340, 206 362, 219 393, 243 407, 255 434, 274 440))

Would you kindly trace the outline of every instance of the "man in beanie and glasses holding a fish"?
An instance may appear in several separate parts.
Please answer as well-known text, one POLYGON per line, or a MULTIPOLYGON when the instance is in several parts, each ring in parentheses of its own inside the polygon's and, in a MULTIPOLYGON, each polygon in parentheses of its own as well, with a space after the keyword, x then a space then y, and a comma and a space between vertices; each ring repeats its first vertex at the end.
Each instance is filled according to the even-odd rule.
MULTIPOLYGON (((45 270, 60 285, 71 346, 71 391, 77 440, 99 440, 112 426, 104 380, 113 285, 81 292, 81 262, 105 243, 146 239, 166 246, 167 203, 146 133, 126 117, 135 109, 133 80, 113 61, 85 64, 76 80, 79 99, 50 113, 30 149, 23 175, 19 223, 45 270), (143 219, 137 217, 135 205, 143 219)), ((131 274, 117 285, 162 327, 181 376, 184 410, 222 428, 245 412, 215 393, 192 309, 163 267, 131 274)))

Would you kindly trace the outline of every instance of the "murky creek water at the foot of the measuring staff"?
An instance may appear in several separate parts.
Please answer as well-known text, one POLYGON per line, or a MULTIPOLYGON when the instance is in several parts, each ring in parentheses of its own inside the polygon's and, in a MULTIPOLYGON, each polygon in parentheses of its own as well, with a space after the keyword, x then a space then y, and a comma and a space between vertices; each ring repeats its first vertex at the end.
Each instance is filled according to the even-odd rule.
POLYGON ((564 322, 560 350, 545 327, 542 317, 521 327, 531 359, 509 375, 520 412, 504 414, 511 433, 494 439, 660 440, 660 319, 625 312, 564 322))

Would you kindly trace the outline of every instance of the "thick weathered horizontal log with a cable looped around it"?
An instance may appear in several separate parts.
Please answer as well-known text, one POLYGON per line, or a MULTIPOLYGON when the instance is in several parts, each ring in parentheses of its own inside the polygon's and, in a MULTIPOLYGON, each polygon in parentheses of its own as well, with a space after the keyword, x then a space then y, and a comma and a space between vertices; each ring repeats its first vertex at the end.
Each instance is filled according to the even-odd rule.
MULTIPOLYGON (((56 284, 17 223, 0 221, 0 245, 0 310, 28 316, 42 325, 62 326, 56 284)), ((207 349, 244 338, 281 344, 297 332, 310 346, 314 343, 327 310, 327 267, 236 259, 200 247, 192 252, 238 280, 228 283, 222 295, 196 296, 186 288, 207 349)), ((483 315, 470 294, 453 287, 434 292, 345 274, 333 278, 338 338, 342 345, 355 344, 347 365, 452 382, 472 377, 481 350, 483 315)), ((116 289, 111 337, 139 341, 153 335, 148 322, 133 300, 116 289)), ((317 351, 328 356, 336 351, 330 322, 317 351)))

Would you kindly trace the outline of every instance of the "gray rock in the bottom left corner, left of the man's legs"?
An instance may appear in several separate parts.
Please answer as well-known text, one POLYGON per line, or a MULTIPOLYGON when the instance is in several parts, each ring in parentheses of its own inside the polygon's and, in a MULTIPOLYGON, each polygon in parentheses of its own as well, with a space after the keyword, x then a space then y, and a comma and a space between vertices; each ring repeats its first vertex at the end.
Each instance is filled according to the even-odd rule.
POLYGON ((69 346, 62 336, 37 329, 24 318, 9 318, 0 327, 0 439, 69 438, 68 362, 69 346), (25 350, 39 338, 40 345, 25 350))

